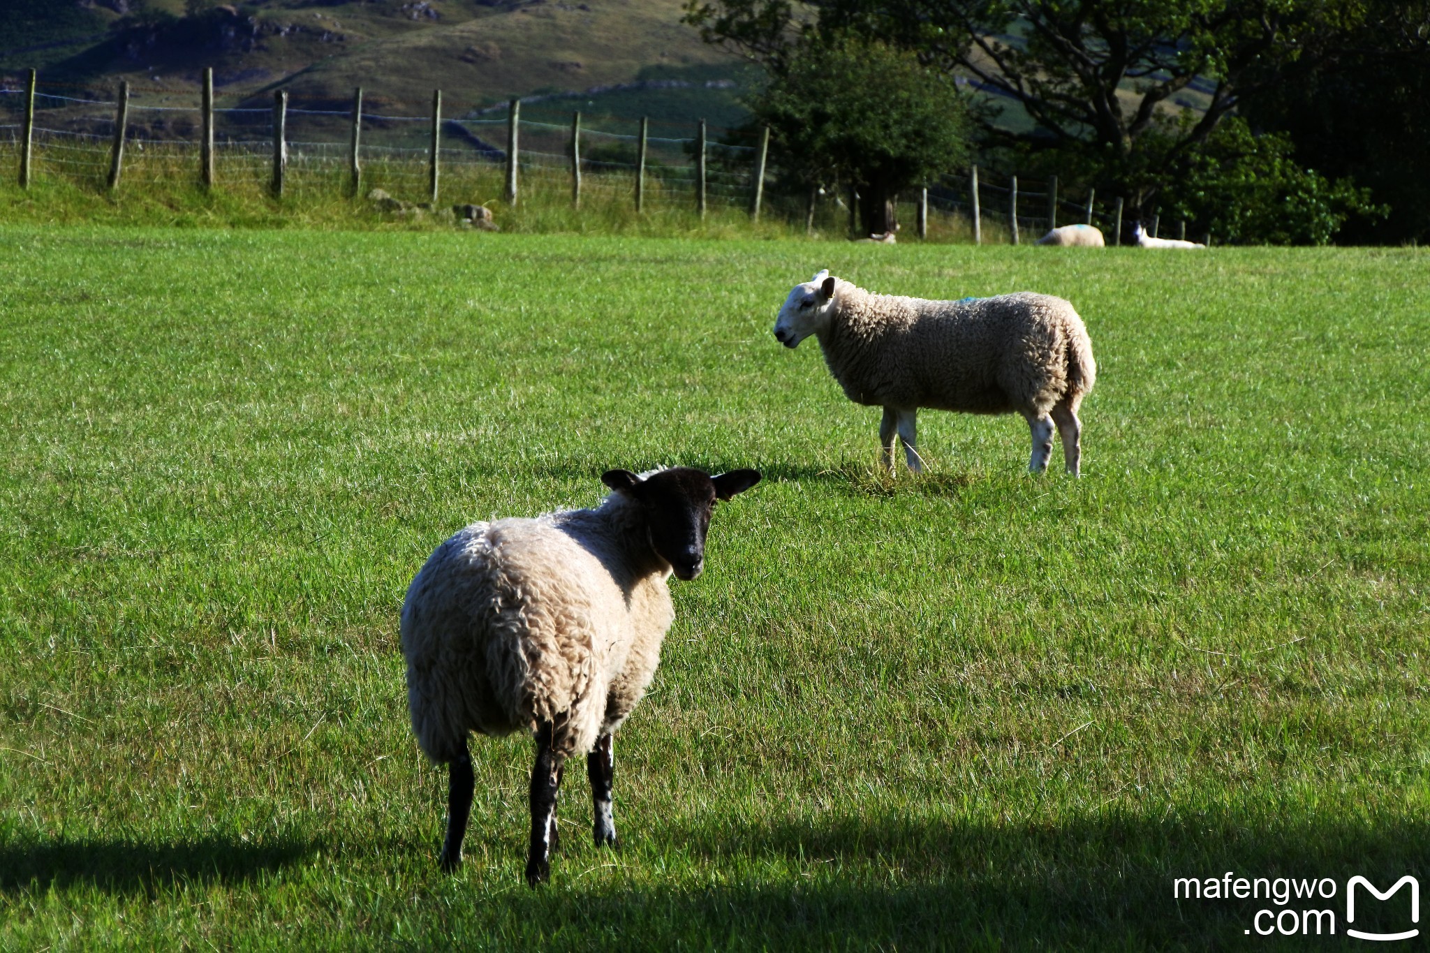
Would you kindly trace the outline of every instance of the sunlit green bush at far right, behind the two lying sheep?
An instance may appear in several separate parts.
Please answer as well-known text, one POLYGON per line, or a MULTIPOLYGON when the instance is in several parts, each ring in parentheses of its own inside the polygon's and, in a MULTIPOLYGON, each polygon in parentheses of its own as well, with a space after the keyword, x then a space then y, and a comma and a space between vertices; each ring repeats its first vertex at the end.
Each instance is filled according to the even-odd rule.
POLYGON ((1171 216, 1231 244, 1328 244, 1351 216, 1384 216, 1370 190, 1328 181, 1291 159, 1284 133, 1253 134, 1231 117, 1167 190, 1171 216))

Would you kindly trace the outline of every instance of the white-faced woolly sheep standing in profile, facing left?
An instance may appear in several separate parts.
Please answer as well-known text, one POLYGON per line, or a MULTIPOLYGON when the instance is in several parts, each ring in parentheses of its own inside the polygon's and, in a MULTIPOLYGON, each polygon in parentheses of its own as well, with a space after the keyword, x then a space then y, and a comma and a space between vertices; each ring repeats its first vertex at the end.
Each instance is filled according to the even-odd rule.
POLYGON ((797 284, 779 309, 775 337, 798 347, 819 339, 824 360, 849 400, 884 407, 879 444, 894 464, 894 434, 911 470, 919 407, 968 413, 1018 411, 1032 433, 1028 469, 1041 473, 1052 453, 1077 476, 1083 424, 1077 411, 1093 390, 1093 341, 1072 306, 1048 294, 927 301, 871 294, 819 271, 797 284))

